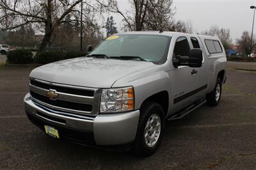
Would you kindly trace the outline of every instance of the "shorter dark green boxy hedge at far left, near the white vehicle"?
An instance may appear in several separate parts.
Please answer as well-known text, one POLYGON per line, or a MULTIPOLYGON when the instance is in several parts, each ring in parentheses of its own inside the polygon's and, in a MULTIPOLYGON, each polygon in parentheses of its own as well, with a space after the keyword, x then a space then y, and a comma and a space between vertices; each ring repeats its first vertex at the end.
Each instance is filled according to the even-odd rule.
POLYGON ((33 54, 28 49, 11 50, 6 54, 6 63, 29 64, 33 62, 33 54))

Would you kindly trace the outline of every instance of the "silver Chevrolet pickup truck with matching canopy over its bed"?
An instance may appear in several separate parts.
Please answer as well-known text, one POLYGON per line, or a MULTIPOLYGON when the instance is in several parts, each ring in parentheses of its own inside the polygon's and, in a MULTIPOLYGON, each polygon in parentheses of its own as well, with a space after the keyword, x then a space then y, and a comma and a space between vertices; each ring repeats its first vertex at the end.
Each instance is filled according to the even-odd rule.
MULTIPOLYGON (((88 48, 92 49, 92 48, 88 48)), ((109 36, 88 56, 35 68, 24 98, 46 134, 154 153, 166 120, 218 105, 227 58, 216 37, 139 31, 109 36)))

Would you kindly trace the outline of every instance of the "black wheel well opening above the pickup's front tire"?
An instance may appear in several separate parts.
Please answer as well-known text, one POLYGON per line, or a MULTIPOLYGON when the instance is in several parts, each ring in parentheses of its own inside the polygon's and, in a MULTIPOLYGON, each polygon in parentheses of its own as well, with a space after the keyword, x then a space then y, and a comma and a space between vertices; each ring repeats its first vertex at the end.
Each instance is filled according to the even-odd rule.
MULTIPOLYGON (((160 104, 164 109, 164 114, 168 112, 169 107, 169 95, 167 91, 161 91, 159 93, 156 93, 150 97, 148 97, 146 100, 144 100, 143 104, 145 102, 156 102, 157 104, 160 104)), ((141 104, 141 105, 143 105, 141 104)))

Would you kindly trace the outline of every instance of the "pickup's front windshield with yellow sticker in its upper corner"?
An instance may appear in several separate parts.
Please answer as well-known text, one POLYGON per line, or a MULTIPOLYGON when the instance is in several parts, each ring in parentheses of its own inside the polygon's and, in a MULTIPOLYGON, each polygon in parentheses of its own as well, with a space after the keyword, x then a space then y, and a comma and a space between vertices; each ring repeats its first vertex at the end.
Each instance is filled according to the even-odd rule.
MULTIPOLYGON (((170 36, 161 35, 114 35, 109 36, 90 53, 104 54, 110 58, 136 56, 145 61, 164 63, 170 45, 170 36)), ((141 59, 140 59, 141 60, 141 59)))

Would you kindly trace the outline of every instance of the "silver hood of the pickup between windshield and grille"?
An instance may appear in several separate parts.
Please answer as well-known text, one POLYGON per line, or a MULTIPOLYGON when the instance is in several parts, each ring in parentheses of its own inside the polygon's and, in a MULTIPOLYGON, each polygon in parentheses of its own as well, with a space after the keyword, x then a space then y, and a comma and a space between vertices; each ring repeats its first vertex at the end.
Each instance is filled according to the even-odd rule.
POLYGON ((118 79, 152 66, 154 63, 146 61, 83 57, 40 66, 30 77, 74 86, 111 88, 118 79))

